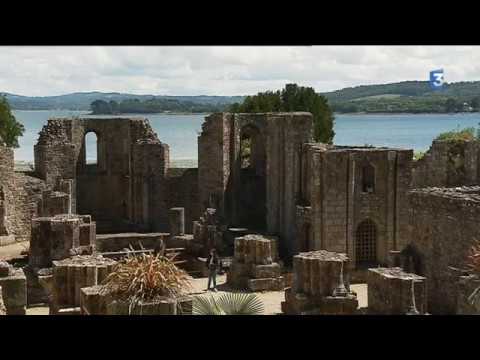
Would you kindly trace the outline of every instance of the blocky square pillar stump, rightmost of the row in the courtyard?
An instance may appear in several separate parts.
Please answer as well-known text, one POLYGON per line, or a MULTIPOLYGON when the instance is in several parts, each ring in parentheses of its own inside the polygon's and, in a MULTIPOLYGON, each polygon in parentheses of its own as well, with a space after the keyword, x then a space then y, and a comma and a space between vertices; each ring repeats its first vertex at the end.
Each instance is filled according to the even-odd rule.
POLYGON ((412 307, 412 281, 415 305, 420 314, 427 312, 427 279, 404 272, 401 268, 369 269, 368 313, 375 315, 404 315, 412 307))

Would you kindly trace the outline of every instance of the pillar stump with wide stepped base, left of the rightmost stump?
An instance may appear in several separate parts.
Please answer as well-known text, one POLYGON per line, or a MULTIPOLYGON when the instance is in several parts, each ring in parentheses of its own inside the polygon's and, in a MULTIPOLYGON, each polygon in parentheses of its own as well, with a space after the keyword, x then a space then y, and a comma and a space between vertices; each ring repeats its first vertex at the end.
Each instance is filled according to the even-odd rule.
POLYGON ((345 286, 348 279, 346 254, 326 250, 293 257, 293 284, 285 290, 282 311, 291 315, 355 314, 358 300, 345 286))

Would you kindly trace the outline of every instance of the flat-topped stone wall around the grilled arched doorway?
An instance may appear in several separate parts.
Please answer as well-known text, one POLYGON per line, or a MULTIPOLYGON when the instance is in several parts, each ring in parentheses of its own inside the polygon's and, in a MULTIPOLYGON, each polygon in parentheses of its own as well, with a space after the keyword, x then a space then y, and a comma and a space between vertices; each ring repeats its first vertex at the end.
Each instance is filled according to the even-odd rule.
POLYGON ((312 143, 301 155, 295 250, 346 252, 355 267, 359 225, 371 221, 376 262, 387 263, 389 251, 408 241, 412 151, 312 143))

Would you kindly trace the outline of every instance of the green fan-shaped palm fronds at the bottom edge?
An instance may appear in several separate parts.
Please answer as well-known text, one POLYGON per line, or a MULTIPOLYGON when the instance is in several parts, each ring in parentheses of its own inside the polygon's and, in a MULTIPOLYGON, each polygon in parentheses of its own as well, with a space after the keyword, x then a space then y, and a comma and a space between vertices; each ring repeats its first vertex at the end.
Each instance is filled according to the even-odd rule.
POLYGON ((213 296, 197 296, 193 302, 195 315, 260 315, 263 303, 255 294, 225 293, 213 296))

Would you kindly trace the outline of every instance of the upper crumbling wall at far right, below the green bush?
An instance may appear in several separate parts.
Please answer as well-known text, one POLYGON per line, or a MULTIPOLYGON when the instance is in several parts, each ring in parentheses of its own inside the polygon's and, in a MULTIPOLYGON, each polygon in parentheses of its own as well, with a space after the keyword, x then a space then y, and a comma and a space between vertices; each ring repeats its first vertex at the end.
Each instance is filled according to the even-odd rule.
POLYGON ((424 157, 413 162, 412 186, 450 187, 479 183, 479 141, 434 140, 424 157))

